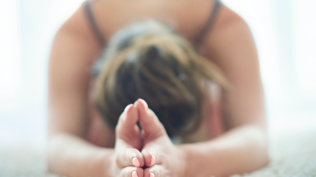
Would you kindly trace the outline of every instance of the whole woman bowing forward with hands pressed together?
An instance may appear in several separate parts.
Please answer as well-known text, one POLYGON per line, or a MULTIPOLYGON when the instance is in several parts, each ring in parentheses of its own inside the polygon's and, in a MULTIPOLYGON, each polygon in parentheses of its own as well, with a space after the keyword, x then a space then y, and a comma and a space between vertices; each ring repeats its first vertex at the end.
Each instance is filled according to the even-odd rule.
POLYGON ((58 174, 229 176, 268 163, 256 47, 219 1, 84 3, 52 45, 49 110, 48 165, 58 174), (126 32, 137 25, 161 30, 126 32), (106 45, 106 63, 96 62, 106 45), (221 118, 210 80, 223 88, 221 118))

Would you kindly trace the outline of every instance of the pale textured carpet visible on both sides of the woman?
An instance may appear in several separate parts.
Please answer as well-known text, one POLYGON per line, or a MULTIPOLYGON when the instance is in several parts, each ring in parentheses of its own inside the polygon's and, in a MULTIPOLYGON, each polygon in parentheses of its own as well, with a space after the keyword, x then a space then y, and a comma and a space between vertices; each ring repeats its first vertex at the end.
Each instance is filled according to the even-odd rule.
MULTIPOLYGON (((268 166, 232 177, 316 177, 316 130, 273 137, 268 166)), ((0 177, 58 176, 46 173, 45 148, 0 145, 0 177)))

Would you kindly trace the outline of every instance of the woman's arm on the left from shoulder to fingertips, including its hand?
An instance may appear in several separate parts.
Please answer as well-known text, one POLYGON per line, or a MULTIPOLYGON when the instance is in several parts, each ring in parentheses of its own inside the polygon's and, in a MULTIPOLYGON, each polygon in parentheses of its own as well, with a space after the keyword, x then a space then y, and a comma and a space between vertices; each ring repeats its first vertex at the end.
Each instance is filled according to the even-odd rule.
MULTIPOLYGON (((56 34, 49 63, 48 169, 69 177, 143 177, 143 155, 136 149, 141 136, 134 126, 138 116, 132 105, 119 118, 114 149, 86 140, 90 66, 101 49, 82 8, 56 34)), ((102 134, 105 141, 111 136, 102 134)))

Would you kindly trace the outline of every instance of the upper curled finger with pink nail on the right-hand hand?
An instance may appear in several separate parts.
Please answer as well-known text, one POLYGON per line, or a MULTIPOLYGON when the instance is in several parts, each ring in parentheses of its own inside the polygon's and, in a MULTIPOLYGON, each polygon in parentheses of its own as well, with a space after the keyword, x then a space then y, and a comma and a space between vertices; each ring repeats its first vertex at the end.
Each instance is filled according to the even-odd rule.
POLYGON ((162 158, 163 158, 163 151, 161 145, 164 144, 163 142, 159 143, 158 141, 155 141, 153 144, 147 144, 143 150, 143 158, 145 162, 146 167, 153 166, 155 164, 161 164, 162 158))

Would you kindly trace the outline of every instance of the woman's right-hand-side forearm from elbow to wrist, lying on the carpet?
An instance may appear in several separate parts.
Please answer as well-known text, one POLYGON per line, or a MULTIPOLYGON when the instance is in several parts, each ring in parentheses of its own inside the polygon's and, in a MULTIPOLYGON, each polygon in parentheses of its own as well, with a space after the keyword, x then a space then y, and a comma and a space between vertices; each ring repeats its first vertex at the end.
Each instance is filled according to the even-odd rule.
POLYGON ((178 147, 186 154, 188 177, 242 174, 269 162, 266 134, 255 126, 235 128, 214 140, 178 147))

